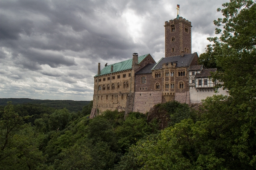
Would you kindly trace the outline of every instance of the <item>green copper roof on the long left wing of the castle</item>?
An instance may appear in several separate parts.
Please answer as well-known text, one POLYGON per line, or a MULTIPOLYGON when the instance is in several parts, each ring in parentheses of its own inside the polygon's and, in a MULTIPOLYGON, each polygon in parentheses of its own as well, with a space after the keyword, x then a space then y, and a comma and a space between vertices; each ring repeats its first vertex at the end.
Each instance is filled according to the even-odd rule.
MULTIPOLYGON (((143 56, 138 57, 139 64, 147 56, 148 56, 148 54, 145 54, 143 56)), ((102 76, 102 75, 105 75, 105 74, 110 74, 110 73, 115 73, 115 72, 118 72, 118 71, 124 71, 124 70, 131 69, 132 59, 128 59, 128 60, 125 60, 125 61, 117 62, 117 63, 111 64, 111 65, 107 65, 106 67, 104 67, 100 71, 100 75, 99 76, 102 76), (111 65, 113 65, 113 71, 112 72, 111 72, 111 65)), ((96 74, 96 76, 98 76, 98 74, 96 74)))

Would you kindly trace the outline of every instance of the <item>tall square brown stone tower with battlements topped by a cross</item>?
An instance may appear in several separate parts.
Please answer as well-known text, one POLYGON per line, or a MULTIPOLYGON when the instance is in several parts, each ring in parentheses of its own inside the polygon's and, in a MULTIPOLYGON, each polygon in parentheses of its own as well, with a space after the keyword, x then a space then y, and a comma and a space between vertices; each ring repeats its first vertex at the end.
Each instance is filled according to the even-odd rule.
POLYGON ((183 17, 165 22, 165 57, 191 54, 191 22, 183 17))

